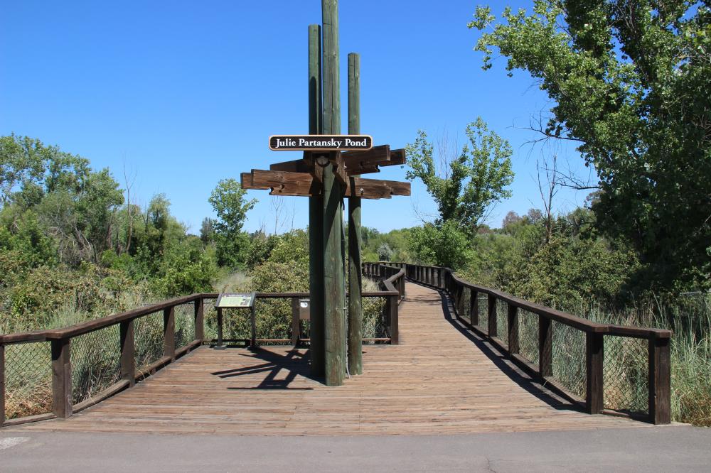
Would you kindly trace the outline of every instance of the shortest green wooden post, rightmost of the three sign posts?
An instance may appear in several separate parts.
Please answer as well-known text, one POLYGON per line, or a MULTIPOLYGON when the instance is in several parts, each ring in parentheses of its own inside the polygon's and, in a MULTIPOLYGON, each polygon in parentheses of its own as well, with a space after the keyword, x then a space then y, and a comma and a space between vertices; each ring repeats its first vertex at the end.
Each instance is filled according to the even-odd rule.
MULTIPOLYGON (((348 134, 360 134, 360 55, 356 53, 348 55, 348 134)), ((360 197, 351 197, 348 199, 348 369, 351 374, 363 374, 362 244, 360 197)))

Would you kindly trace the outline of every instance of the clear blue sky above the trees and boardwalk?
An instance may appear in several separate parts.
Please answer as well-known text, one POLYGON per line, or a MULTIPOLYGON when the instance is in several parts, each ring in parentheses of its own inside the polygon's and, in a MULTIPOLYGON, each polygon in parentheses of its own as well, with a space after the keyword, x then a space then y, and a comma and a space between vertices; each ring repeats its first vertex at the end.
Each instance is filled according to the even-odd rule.
MULTIPOLYGON (((513 146, 509 210, 540 207, 535 181, 541 153, 560 153, 583 170, 572 148, 541 150, 522 129, 550 107, 524 72, 506 77, 505 60, 481 70, 466 28, 477 1, 341 0, 343 131, 347 130, 346 55, 361 55, 361 131, 375 144, 404 147, 417 129, 464 144, 464 127, 482 116, 513 146)), ((483 1, 479 2, 483 3, 483 1)), ((530 8, 530 1, 506 2, 530 8)), ((495 13, 504 2, 490 1, 495 13)), ((271 134, 301 134, 307 121, 307 26, 321 23, 319 0, 6 1, 0 16, 0 134, 40 138, 109 168, 146 204, 164 192, 173 214, 199 232, 218 180, 298 158, 267 149, 271 134)), ((404 180, 399 166, 370 177, 404 180)), ((245 229, 305 227, 304 197, 260 202, 245 229), (282 208, 274 208, 280 200, 282 208)), ((572 210, 584 193, 561 192, 572 210)), ((363 224, 382 231, 434 214, 424 187, 412 197, 366 201, 363 224)))

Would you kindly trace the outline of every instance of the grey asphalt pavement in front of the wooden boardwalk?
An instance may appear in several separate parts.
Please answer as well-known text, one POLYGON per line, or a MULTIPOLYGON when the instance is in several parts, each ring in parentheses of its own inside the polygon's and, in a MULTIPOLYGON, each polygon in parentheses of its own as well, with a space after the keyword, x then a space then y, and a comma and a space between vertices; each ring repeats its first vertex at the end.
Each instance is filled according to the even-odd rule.
POLYGON ((476 435, 260 437, 0 430, 2 472, 711 471, 685 425, 476 435))

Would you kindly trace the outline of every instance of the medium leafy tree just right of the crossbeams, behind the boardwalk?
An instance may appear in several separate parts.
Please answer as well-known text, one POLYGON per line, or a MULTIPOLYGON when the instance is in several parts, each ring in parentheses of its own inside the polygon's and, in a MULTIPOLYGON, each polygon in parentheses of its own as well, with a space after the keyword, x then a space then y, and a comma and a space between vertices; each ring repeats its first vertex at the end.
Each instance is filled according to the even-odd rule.
POLYGON ((510 197, 506 187, 513 182, 513 170, 508 141, 488 131, 481 118, 466 126, 466 136, 469 143, 458 156, 447 156, 446 147, 439 146, 437 165, 434 146, 424 131, 418 131, 415 143, 407 145, 406 177, 419 178, 427 186, 439 209, 437 225, 452 221, 474 234, 486 210, 510 197))

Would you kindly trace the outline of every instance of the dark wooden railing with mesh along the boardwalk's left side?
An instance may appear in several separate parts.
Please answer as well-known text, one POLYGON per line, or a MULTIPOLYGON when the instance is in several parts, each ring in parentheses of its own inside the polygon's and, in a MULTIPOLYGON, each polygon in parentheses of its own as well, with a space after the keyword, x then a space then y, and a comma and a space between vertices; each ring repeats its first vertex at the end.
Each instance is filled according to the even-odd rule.
MULTIPOLYGON (((383 290, 362 295, 385 298, 380 317, 387 337, 364 341, 397 344, 405 271, 384 266, 367 268, 365 274, 383 285, 383 290)), ((257 300, 289 299, 292 305, 291 338, 257 343, 308 342, 300 339, 299 320, 299 301, 308 297, 309 293, 257 293, 257 300)), ((68 418, 134 386, 201 344, 215 342, 205 337, 205 312, 216 318, 216 311, 209 308, 217 298, 217 293, 192 294, 70 327, 0 335, 0 426, 68 418), (8 403, 13 406, 11 418, 6 418, 8 403)))

